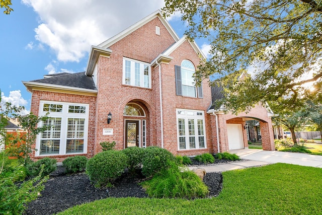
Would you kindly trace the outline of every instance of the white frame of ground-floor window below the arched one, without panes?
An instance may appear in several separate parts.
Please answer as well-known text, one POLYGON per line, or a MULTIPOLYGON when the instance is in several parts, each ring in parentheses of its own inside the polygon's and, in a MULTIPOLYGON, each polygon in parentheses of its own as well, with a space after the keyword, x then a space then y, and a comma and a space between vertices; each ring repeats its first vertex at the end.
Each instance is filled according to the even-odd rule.
POLYGON ((207 140, 206 140, 206 126, 205 126, 205 114, 204 111, 202 110, 189 110, 189 109, 176 109, 176 123, 177 123, 177 145, 178 145, 178 150, 199 150, 199 149, 207 149, 207 140), (179 113, 178 113, 179 112, 179 113), (191 115, 193 113, 193 115, 191 115), (202 113, 201 115, 197 113, 202 113), (185 139, 186 139, 186 148, 185 149, 180 149, 180 141, 179 141, 179 124, 178 124, 178 119, 184 119, 185 123, 185 139), (193 119, 194 120, 194 137, 195 137, 195 148, 190 149, 190 144, 189 144, 189 124, 188 120, 193 119), (205 147, 200 148, 199 147, 199 133, 198 133, 198 119, 201 119, 203 122, 203 135, 204 136, 204 143, 205 147))

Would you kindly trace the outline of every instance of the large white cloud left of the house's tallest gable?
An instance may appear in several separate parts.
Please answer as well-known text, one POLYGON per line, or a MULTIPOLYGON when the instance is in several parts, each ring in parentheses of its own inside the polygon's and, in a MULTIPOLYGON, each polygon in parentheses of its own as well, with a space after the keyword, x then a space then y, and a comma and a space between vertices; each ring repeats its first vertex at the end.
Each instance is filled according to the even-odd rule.
POLYGON ((163 0, 22 0, 39 15, 35 38, 48 45, 59 61, 78 62, 98 45, 150 13, 163 0))

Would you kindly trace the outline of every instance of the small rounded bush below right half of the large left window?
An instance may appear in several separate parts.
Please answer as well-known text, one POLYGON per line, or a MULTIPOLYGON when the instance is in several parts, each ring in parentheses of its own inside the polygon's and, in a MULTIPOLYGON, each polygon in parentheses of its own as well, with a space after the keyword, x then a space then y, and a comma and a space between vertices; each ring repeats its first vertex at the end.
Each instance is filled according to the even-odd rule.
POLYGON ((62 165, 65 167, 65 172, 68 174, 84 172, 86 164, 87 158, 85 156, 69 157, 62 161, 62 165))

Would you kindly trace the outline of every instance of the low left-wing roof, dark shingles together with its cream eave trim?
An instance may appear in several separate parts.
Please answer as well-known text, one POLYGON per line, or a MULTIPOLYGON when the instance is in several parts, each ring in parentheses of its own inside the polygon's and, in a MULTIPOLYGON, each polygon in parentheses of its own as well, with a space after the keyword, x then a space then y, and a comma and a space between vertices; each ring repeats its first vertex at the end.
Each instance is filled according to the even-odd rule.
POLYGON ((32 92, 34 87, 60 89, 68 91, 96 93, 97 88, 92 77, 82 73, 60 73, 55 76, 45 76, 47 78, 23 82, 27 89, 32 92))

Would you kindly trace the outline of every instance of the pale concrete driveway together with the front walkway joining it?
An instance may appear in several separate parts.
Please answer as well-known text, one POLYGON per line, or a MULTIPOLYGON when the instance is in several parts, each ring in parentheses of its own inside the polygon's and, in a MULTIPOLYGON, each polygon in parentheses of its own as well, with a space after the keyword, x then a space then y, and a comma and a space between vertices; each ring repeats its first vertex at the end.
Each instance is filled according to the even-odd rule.
POLYGON ((229 170, 244 169, 248 167, 263 166, 274 163, 286 163, 322 168, 322 156, 319 155, 263 151, 256 149, 230 150, 229 153, 236 154, 241 159, 247 159, 247 161, 241 161, 231 164, 190 167, 190 169, 192 170, 197 168, 203 168, 206 170, 206 172, 224 172, 229 170))

